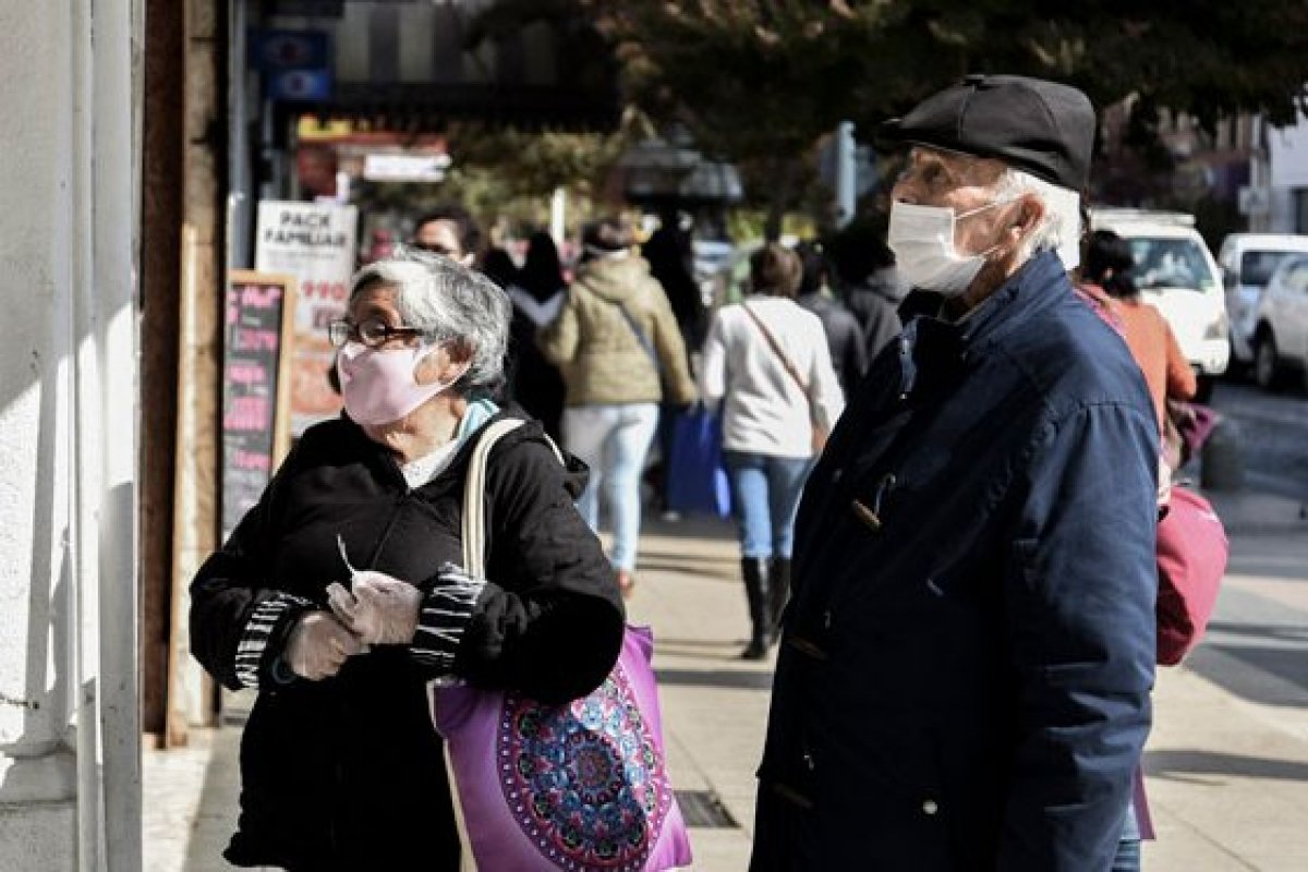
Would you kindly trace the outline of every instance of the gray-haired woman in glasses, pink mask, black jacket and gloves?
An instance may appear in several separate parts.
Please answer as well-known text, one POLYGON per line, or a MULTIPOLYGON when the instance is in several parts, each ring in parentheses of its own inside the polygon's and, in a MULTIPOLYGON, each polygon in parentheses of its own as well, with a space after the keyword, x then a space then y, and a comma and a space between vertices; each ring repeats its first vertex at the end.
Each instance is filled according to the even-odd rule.
POLYGON ((345 413, 303 434, 196 575, 196 658, 224 685, 259 692, 232 863, 458 869, 428 682, 562 702, 612 668, 624 611, 573 507, 585 468, 560 464, 539 424, 490 455, 488 578, 453 566, 468 456, 502 414, 489 396, 509 316, 494 284, 451 260, 365 267, 331 324, 345 413), (352 575, 337 618, 328 586, 352 575))

